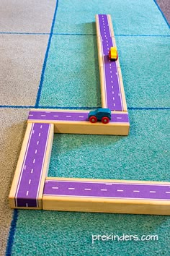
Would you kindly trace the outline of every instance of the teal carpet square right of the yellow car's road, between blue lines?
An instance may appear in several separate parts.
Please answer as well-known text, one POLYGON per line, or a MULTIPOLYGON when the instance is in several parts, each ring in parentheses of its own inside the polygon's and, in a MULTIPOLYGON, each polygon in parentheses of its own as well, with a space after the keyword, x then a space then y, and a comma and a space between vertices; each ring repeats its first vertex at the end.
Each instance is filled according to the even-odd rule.
POLYGON ((169 37, 117 37, 128 107, 169 107, 169 37))

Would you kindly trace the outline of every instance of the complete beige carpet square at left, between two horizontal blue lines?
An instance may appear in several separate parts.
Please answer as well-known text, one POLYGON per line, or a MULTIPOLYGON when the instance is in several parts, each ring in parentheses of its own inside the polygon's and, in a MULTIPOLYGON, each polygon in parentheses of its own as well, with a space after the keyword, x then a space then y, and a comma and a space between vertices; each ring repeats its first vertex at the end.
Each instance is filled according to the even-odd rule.
POLYGON ((0 35, 1 105, 34 106, 48 35, 0 35))

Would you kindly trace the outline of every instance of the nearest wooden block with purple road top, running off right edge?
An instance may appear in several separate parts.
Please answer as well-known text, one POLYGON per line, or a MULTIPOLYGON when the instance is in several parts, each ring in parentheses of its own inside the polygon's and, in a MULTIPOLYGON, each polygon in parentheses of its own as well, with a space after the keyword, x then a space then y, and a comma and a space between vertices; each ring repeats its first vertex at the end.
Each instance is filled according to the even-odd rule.
POLYGON ((42 209, 170 215, 170 183, 49 177, 42 209))

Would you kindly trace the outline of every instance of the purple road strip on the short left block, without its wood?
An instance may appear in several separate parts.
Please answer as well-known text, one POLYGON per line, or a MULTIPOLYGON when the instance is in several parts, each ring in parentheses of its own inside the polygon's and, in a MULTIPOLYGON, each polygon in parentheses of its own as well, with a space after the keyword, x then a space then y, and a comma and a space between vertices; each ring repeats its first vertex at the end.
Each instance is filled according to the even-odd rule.
POLYGON ((32 124, 17 184, 16 207, 38 207, 37 196, 40 189, 49 132, 50 124, 32 124))

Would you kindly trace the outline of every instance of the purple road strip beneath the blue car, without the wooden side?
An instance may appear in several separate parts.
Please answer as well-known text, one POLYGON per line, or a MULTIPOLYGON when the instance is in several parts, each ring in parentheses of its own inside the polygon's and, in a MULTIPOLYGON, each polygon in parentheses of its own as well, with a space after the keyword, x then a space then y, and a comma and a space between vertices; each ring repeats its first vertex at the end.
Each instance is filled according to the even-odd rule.
MULTIPOLYGON (((47 121, 88 121, 89 111, 30 111, 28 120, 47 120, 47 121)), ((128 113, 112 113, 112 123, 129 123, 128 113)), ((106 125, 106 124, 104 124, 106 125)))

